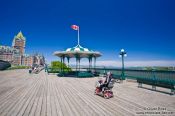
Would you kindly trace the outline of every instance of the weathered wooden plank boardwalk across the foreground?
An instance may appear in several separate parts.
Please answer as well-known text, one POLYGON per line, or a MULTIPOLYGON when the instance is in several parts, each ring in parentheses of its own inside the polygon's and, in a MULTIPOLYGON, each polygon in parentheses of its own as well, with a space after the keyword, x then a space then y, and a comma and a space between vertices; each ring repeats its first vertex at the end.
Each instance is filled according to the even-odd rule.
POLYGON ((98 79, 1 71, 0 116, 149 116, 163 111, 175 116, 175 96, 123 82, 115 84, 113 98, 104 99, 94 95, 98 79))

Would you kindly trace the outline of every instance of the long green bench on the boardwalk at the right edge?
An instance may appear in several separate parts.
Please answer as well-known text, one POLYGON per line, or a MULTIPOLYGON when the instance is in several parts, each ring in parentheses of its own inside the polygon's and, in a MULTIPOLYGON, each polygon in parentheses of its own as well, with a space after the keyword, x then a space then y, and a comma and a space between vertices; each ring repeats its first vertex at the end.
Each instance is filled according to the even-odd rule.
POLYGON ((160 78, 137 78, 138 87, 142 87, 142 84, 151 85, 153 90, 157 87, 163 87, 171 89, 171 94, 175 94, 175 83, 170 79, 160 79, 160 78))

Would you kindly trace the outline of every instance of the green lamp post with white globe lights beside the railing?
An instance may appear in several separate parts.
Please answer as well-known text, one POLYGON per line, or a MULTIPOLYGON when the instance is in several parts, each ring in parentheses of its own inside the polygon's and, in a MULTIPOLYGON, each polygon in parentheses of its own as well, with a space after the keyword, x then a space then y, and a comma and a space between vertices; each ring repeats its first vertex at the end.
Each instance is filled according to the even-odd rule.
POLYGON ((125 80, 125 73, 124 73, 124 57, 126 57, 127 54, 124 49, 120 50, 119 57, 122 57, 122 80, 125 80))

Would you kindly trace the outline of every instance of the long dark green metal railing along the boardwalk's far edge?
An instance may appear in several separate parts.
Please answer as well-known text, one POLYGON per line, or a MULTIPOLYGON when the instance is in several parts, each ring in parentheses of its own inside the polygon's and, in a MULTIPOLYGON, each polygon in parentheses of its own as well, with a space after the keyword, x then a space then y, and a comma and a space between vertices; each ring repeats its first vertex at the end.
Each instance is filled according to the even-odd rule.
MULTIPOLYGON (((52 73, 60 73, 60 72, 69 72, 67 69, 51 69, 48 68, 48 71, 52 73)), ((76 71, 75 68, 71 68, 71 71, 76 71)), ((121 77, 122 69, 117 68, 81 68, 81 71, 91 71, 96 72, 98 74, 106 74, 108 71, 112 72, 114 76, 121 77)), ((137 79, 137 78, 158 78, 158 79, 166 79, 175 81, 175 71, 156 71, 156 70, 133 70, 133 69, 125 69, 124 76, 126 79, 137 79)), ((121 77, 122 78, 122 77, 121 77)), ((125 79, 124 78, 124 79, 125 79)))

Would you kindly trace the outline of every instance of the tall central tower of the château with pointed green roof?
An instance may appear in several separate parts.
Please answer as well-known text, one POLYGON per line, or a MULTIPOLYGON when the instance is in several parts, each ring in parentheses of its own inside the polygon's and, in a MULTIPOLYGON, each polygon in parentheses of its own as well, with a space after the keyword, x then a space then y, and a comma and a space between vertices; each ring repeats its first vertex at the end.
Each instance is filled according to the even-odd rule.
POLYGON ((25 44, 26 44, 26 38, 20 31, 13 39, 12 47, 19 50, 20 55, 23 55, 25 53, 25 44))

